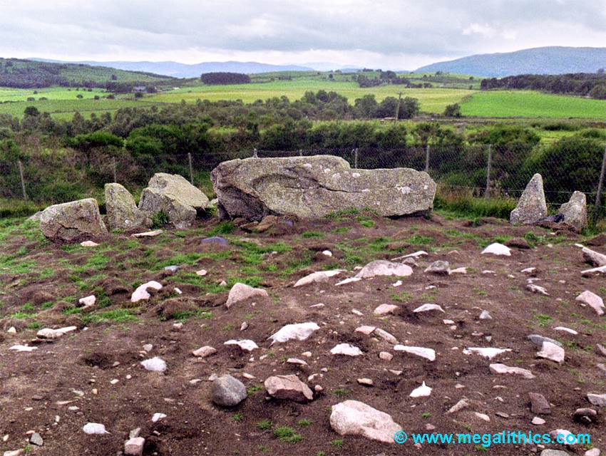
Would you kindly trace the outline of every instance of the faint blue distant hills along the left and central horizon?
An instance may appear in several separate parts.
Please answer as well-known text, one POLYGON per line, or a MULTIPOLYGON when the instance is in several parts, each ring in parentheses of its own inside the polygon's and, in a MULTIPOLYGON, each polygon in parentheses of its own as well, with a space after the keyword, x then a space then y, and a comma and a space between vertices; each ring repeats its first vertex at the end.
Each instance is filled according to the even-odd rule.
MULTIPOLYGON (((29 60, 38 62, 51 62, 51 63, 68 63, 64 61, 52 61, 43 58, 30 58, 29 60)), ((309 66, 298 66, 298 65, 271 65, 269 63, 259 62, 202 62, 202 63, 179 63, 173 61, 164 62, 128 62, 128 61, 78 61, 69 63, 83 63, 91 66, 107 66, 110 68, 116 68, 124 71, 144 71, 145 73, 155 73, 165 76, 172 76, 174 78, 197 78, 202 73, 214 73, 220 71, 227 71, 230 73, 269 73, 272 71, 314 71, 314 68, 309 66)))

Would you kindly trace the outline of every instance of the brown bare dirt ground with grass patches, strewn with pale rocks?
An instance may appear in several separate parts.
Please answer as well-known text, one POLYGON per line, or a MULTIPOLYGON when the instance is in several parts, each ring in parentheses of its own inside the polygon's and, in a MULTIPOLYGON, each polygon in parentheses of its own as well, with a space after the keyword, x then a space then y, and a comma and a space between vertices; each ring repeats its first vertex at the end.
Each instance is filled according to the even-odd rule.
MULTIPOLYGON (((537 445, 415 448, 410 441, 388 445, 341 436, 329 424, 330 408, 346 399, 389 413, 409 435, 426 432, 428 424, 435 432, 566 429, 589 433, 592 446, 606 450, 603 410, 590 425, 572 419, 577 408, 596 408, 587 402, 587 393, 606 393, 606 373, 597 366, 606 358, 596 348, 606 342, 605 317, 575 301, 584 290, 605 296, 606 282, 603 276, 582 278, 580 271, 590 266, 577 242, 587 239, 498 220, 469 222, 436 214, 392 220, 354 213, 260 234, 209 219, 150 239, 118 234, 86 248, 50 244, 33 222, 6 222, 0 230, 0 437, 7 437, 0 440, 0 451, 118 455, 136 427, 146 439, 144 455, 531 455, 541 450, 537 445), (230 244, 200 242, 212 235, 230 244), (531 248, 513 248, 511 257, 481 254, 491 242, 513 237, 525 238, 531 248), (428 255, 418 259, 414 274, 401 278, 401 286, 393 286, 399 279, 393 276, 334 285, 353 276, 355 266, 421 249, 428 255), (467 266, 467 273, 423 272, 438 259, 453 269, 467 266), (164 271, 169 265, 180 269, 164 271), (537 269, 520 272, 529 267, 537 269), (202 268, 207 275, 197 276, 202 268), (292 287, 306 274, 335 268, 348 271, 322 284, 292 287), (530 276, 540 279, 535 284, 549 296, 526 289, 530 276), (148 301, 130 303, 135 286, 153 279, 163 290, 148 301), (227 292, 237 281, 267 289, 269 299, 226 309, 227 292), (78 309, 78 299, 91 294, 97 296, 96 306, 78 309), (311 307, 319 303, 324 306, 311 307), (412 312, 426 303, 439 304, 445 313, 412 312), (380 304, 396 304, 399 310, 374 316, 380 304), (483 310, 492 319, 479 319, 483 310), (270 346, 272 333, 305 321, 321 329, 307 341, 270 346), (177 322, 183 327, 175 328, 177 322), (240 331, 243 322, 248 327, 240 331), (78 330, 52 343, 34 341, 35 351, 8 350, 15 344, 34 346, 40 328, 69 325, 78 330), (391 343, 357 333, 362 325, 378 326, 406 345, 433 348, 436 361, 396 352, 391 343), (13 326, 16 333, 7 332, 13 326), (578 333, 556 331, 558 326, 578 333), (537 358, 539 348, 527 338, 531 333, 560 341, 565 361, 537 358), (244 338, 260 348, 240 353, 223 345, 244 338), (331 355, 337 343, 351 343, 364 353, 331 355), (145 344, 153 348, 146 352, 145 344), (192 356, 192 350, 206 345, 217 353, 205 359, 192 356), (511 351, 489 361, 463 354, 468 347, 511 351), (312 356, 304 357, 306 351, 312 356), (380 359, 381 351, 394 358, 380 359), (166 361, 165 373, 140 366, 153 356, 166 361), (291 357, 309 366, 286 363, 291 357), (535 378, 496 375, 490 363, 525 368, 535 378), (248 398, 233 409, 210 400, 208 378, 224 373, 247 387, 248 398), (269 398, 265 378, 290 373, 305 383, 309 375, 319 374, 309 386, 322 390, 309 403, 269 398), (360 385, 358 378, 371 378, 374 385, 360 385), (192 381, 196 379, 200 381, 192 381), (423 381, 433 388, 431 396, 410 398, 423 381), (530 424, 537 416, 530 410, 530 392, 542 393, 551 403, 550 415, 540 415, 544 425, 530 424), (445 415, 462 398, 469 407, 445 415), (490 422, 476 412, 488 415, 490 422), (167 416, 153 423, 154 413, 167 416), (82 427, 88 422, 103 423, 109 434, 86 435, 82 427), (284 426, 292 428, 294 438, 276 435, 284 426), (41 435, 43 446, 28 442, 31 431, 41 435)), ((606 252, 603 243, 592 248, 606 252)), ((559 448, 582 455, 590 446, 559 448)))

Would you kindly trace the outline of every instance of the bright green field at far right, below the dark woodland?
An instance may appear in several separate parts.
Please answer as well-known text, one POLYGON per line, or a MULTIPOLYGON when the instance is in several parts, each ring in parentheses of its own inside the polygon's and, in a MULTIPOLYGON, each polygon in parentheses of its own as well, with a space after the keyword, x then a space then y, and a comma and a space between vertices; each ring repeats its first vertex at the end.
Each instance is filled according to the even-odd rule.
POLYGON ((606 100, 529 90, 491 90, 466 98, 461 113, 504 118, 606 118, 606 100))

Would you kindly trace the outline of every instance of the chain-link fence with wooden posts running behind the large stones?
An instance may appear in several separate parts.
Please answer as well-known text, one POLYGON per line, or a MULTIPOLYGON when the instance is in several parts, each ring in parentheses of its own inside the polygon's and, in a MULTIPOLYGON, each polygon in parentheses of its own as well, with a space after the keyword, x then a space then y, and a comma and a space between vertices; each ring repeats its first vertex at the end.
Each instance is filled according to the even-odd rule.
POLYGON ((606 215, 600 178, 603 180, 606 150, 595 145, 585 149, 510 145, 424 145, 385 150, 355 149, 252 150, 200 152, 183 155, 110 155, 103 151, 68 150, 60 158, 41 155, 16 162, 0 162, 0 197, 64 202, 102 189, 105 182, 120 182, 130 190, 146 185, 155 172, 180 174, 212 192, 209 173, 220 162, 257 156, 291 157, 335 155, 351 167, 379 169, 411 167, 426 171, 441 191, 460 191, 473 197, 518 198, 530 178, 543 175, 545 197, 557 207, 575 190, 587 195, 597 215, 606 215), (600 195, 601 196, 601 195, 600 195), (601 201, 601 202, 600 202, 601 201), (597 204, 596 204, 597 203, 597 204))

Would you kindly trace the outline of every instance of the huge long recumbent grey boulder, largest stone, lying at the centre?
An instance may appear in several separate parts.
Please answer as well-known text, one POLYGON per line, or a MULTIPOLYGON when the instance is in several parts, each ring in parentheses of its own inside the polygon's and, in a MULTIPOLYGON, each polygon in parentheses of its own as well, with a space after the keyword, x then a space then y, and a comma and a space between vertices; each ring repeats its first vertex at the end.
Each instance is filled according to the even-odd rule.
POLYGON ((247 158, 211 172, 224 218, 269 214, 319 219, 342 209, 373 209, 384 217, 428 212, 436 182, 409 168, 352 170, 332 155, 247 158))

